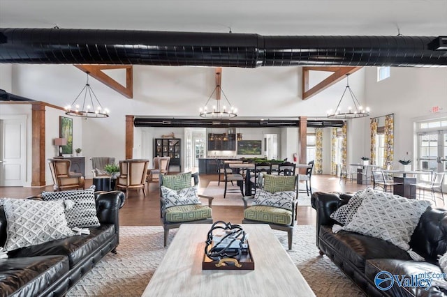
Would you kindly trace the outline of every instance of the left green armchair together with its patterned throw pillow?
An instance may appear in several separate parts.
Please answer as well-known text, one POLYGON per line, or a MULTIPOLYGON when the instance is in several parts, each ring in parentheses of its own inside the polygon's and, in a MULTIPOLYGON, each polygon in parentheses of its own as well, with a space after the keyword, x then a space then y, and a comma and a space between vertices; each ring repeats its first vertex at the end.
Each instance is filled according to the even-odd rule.
POLYGON ((211 204, 214 197, 197 194, 198 173, 162 175, 160 178, 160 215, 164 229, 164 246, 169 230, 181 224, 212 224, 211 204), (192 185, 191 185, 192 179, 192 185), (208 199, 208 205, 199 198, 208 199))

